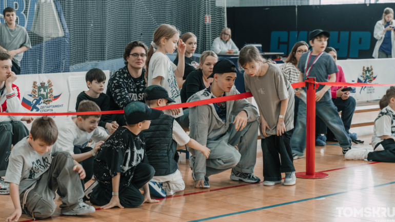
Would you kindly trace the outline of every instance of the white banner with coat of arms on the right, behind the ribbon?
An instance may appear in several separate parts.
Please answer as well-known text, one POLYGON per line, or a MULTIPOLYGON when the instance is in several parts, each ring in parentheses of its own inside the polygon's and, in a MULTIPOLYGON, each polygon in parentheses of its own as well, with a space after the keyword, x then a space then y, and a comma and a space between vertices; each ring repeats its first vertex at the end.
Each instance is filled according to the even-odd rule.
MULTIPOLYGON (((338 60, 346 82, 390 84, 395 83, 395 58, 338 60)), ((363 102, 381 99, 389 86, 356 87, 356 100, 363 102)))

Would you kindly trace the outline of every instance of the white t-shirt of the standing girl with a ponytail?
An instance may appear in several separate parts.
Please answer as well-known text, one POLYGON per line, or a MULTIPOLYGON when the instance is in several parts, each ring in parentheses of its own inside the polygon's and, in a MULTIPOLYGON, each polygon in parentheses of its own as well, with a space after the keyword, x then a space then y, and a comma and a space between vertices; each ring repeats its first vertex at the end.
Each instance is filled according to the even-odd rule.
MULTIPOLYGON (((180 89, 174 75, 174 70, 176 69, 177 66, 170 61, 169 57, 161 52, 153 53, 149 61, 147 80, 148 86, 151 86, 153 78, 162 76, 161 86, 167 90, 169 97, 175 101, 175 104, 180 104, 180 89)), ((184 115, 183 110, 180 110, 181 112, 173 116, 174 118, 184 115)), ((163 112, 167 115, 172 115, 170 110, 164 110, 163 112)))

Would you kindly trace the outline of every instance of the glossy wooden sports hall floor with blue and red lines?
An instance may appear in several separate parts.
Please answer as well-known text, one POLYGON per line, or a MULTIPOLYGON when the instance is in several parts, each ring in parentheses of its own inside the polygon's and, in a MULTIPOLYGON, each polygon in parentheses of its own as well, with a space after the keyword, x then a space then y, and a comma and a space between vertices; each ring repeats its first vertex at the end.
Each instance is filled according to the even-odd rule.
MULTIPOLYGON (((353 122, 373 120, 378 112, 354 116, 353 122)), ((352 128, 364 144, 353 148, 371 148, 372 126, 352 128)), ((143 204, 139 208, 97 210, 86 216, 60 216, 58 208, 52 218, 43 221, 395 221, 392 217, 374 217, 352 214, 355 208, 395 207, 395 165, 364 160, 345 160, 341 148, 335 143, 315 148, 315 171, 330 175, 325 179, 297 179, 294 186, 281 184, 267 187, 229 179, 230 170, 210 177, 209 189, 193 188, 194 181, 188 159, 181 154, 179 168, 183 174, 184 191, 160 204, 143 204), (338 208, 338 209, 337 209, 338 208), (387 219, 387 220, 384 220, 387 219)), ((294 160, 296 172, 305 171, 306 159, 294 160)), ((257 148, 255 175, 263 180, 262 150, 257 148)), ((284 175, 283 175, 284 177, 284 175)), ((61 201, 56 197, 57 206, 61 201)), ((89 203, 88 203, 89 204, 89 203)), ((95 206, 96 209, 99 206, 95 206)), ((9 195, 0 196, 0 219, 5 220, 14 210, 9 195)), ((380 211, 380 215, 381 215, 380 211)), ((358 213, 358 212, 357 212, 358 213)), ((365 212, 366 213, 366 212, 365 212)), ((22 215, 19 221, 32 221, 22 215)))

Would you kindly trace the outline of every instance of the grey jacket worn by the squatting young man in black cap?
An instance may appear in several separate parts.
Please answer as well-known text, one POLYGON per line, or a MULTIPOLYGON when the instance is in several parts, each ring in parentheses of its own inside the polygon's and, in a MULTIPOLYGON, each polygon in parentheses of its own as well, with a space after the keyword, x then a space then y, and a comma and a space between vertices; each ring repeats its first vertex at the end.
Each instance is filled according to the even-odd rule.
MULTIPOLYGON (((233 86, 228 95, 240 94, 236 87, 233 86)), ((211 86, 192 95, 187 102, 194 102, 203 99, 209 99, 212 96, 211 86)), ((247 112, 248 122, 253 122, 258 118, 258 109, 247 99, 231 100, 226 102, 226 123, 215 111, 213 104, 201 105, 189 108, 189 136, 195 139, 199 144, 207 145, 207 140, 215 140, 221 138, 228 129, 229 125, 234 121, 234 116, 238 115, 242 110, 247 112)), ((230 146, 230 145, 229 145, 230 146)), ((209 147, 209 149, 221 149, 218 147, 209 147)), ((223 149, 223 148, 222 148, 223 149)), ((192 149, 188 149, 192 150, 192 149)), ((195 176, 202 178, 206 172, 206 157, 202 152, 194 150, 195 153, 195 176)), ((193 154, 193 151, 192 151, 193 154)))

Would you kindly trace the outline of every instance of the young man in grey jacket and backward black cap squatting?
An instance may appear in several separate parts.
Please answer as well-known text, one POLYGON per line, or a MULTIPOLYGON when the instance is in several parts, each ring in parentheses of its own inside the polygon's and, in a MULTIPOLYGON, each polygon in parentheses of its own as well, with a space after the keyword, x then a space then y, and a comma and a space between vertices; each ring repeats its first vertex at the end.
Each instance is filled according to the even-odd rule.
MULTIPOLYGON (((192 95, 187 102, 239 94, 234 86, 236 67, 223 59, 216 63, 206 89, 192 95)), ((259 122, 258 109, 246 99, 201 105, 190 108, 189 136, 211 152, 206 160, 202 152, 188 147, 195 187, 208 188, 208 177, 232 168, 230 178, 259 183, 254 166, 259 122), (239 151, 234 148, 238 145, 239 151)))

